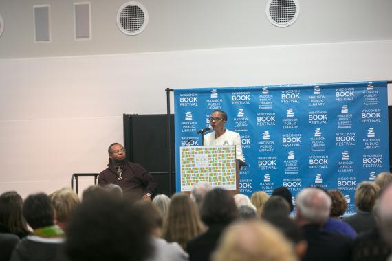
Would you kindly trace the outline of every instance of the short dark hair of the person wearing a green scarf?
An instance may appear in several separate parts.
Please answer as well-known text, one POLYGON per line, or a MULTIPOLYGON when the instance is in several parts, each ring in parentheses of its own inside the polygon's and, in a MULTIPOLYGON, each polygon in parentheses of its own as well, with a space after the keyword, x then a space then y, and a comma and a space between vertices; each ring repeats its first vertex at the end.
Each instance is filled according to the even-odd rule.
POLYGON ((32 194, 23 203, 23 216, 32 229, 54 225, 54 209, 45 193, 32 194))

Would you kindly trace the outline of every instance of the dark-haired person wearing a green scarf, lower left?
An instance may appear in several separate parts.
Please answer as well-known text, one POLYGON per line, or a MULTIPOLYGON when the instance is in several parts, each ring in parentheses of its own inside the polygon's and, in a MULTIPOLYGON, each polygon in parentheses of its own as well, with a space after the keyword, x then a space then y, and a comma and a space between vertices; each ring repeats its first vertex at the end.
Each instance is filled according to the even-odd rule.
POLYGON ((32 194, 23 203, 23 216, 33 229, 33 235, 23 238, 15 247, 11 261, 61 259, 63 231, 54 225, 54 209, 49 196, 32 194))

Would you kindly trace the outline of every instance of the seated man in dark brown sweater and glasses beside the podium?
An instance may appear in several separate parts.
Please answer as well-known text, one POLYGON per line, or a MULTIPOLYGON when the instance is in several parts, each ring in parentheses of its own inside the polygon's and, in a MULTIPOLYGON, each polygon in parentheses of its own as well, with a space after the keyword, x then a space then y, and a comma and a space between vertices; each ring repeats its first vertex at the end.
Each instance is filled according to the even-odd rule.
POLYGON ((113 183, 119 185, 124 192, 131 192, 135 196, 151 200, 151 196, 157 189, 154 177, 140 164, 128 161, 121 144, 111 144, 108 152, 109 164, 106 170, 100 172, 98 185, 113 183))

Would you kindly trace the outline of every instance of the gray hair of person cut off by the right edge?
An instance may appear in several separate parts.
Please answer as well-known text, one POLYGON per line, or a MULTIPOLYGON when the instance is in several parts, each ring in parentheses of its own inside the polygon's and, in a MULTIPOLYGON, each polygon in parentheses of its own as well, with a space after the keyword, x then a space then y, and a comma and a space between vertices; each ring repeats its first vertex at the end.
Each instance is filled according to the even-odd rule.
POLYGON ((382 236, 392 247, 392 185, 384 188, 378 200, 376 211, 382 236))

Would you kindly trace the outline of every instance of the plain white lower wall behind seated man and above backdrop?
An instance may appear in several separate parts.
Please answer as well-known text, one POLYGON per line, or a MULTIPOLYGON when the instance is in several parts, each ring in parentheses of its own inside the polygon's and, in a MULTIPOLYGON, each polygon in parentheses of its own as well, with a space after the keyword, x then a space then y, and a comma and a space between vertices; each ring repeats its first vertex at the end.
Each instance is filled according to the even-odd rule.
POLYGON ((166 113, 167 87, 392 80, 391 60, 392 41, 0 60, 0 192, 100 172, 122 113, 166 113))

